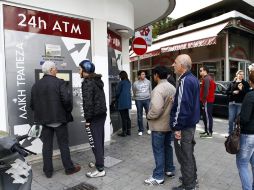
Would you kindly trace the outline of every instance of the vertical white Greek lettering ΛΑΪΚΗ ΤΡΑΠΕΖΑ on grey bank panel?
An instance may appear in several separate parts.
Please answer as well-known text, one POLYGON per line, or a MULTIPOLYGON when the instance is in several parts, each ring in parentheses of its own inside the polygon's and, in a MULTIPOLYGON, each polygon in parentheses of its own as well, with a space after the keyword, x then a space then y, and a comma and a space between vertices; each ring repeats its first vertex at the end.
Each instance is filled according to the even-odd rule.
POLYGON ((16 44, 16 72, 17 72, 17 99, 18 109, 21 111, 20 118, 27 119, 26 109, 26 75, 25 75, 25 54, 23 43, 16 44))

